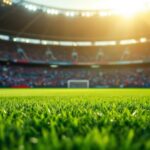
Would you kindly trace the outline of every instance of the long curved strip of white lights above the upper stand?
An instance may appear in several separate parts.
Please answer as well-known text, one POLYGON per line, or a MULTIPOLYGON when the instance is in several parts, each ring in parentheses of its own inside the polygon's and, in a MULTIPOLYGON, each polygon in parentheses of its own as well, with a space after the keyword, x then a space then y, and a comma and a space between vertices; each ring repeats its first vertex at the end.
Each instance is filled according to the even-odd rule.
POLYGON ((9 35, 0 34, 0 40, 3 41, 13 41, 19 43, 31 43, 31 44, 41 44, 41 45, 60 45, 60 46, 115 46, 115 45, 132 45, 137 43, 148 43, 149 38, 141 37, 139 39, 124 39, 120 41, 53 41, 53 40, 41 40, 32 39, 24 37, 15 37, 9 35))

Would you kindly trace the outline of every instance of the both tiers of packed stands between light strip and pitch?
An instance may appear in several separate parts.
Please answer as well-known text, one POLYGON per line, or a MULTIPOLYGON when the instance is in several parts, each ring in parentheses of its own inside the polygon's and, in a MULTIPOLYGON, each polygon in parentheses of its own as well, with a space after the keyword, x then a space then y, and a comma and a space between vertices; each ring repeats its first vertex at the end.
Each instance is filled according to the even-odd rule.
POLYGON ((149 47, 148 43, 105 48, 48 47, 1 41, 0 87, 65 88, 69 80, 87 80, 91 88, 147 88, 149 47), (94 69, 94 65, 101 66, 94 69))

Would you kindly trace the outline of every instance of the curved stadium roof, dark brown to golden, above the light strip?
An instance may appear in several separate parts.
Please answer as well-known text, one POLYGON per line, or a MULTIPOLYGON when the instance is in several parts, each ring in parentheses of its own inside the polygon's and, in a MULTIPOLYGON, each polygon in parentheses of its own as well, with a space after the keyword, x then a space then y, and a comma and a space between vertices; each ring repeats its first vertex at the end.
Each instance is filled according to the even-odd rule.
MULTIPOLYGON (((69 11, 66 10, 61 11, 61 13, 57 15, 53 15, 52 13, 49 13, 53 9, 45 8, 46 6, 35 6, 33 8, 37 9, 35 11, 32 11, 32 7, 29 7, 30 9, 27 9, 25 7, 26 5, 24 5, 23 2, 25 2, 26 0, 17 1, 19 2, 18 4, 14 4, 10 7, 0 6, 1 34, 13 35, 16 37, 29 37, 62 41, 107 41, 140 39, 141 37, 149 37, 150 35, 150 11, 142 12, 141 14, 129 18, 124 18, 120 15, 108 15, 108 17, 99 15, 93 15, 89 17, 89 15, 87 15, 84 17, 82 16, 84 12, 81 12, 81 14, 74 15, 72 17, 71 12, 73 11, 70 11, 69 14, 71 16, 68 17, 69 11), (45 11, 45 9, 47 9, 47 11, 45 11)), ((33 1, 35 0, 32 0, 32 2, 33 1)), ((48 0, 44 1, 46 2, 48 0)), ((35 2, 41 2, 42 5, 44 4, 44 1, 36 0, 35 2)), ((70 1, 73 4, 73 0, 70 1)), ((135 2, 135 0, 133 1, 135 2)), ((133 1, 131 1, 131 3, 133 3, 133 1)), ((150 2, 150 0, 147 1, 150 2)), ((31 4, 28 3, 27 5, 32 6, 32 2, 31 4)), ((52 0, 49 0, 49 3, 50 2, 52 2, 52 0)), ((58 2, 58 0, 53 0, 53 4, 56 4, 56 2, 58 2)), ((65 2, 67 2, 67 0, 64 0, 63 2, 64 5, 62 7, 65 8, 65 6, 69 5, 65 5, 65 2)), ((96 1, 92 0, 92 2, 94 3, 96 1)), ((138 2, 138 0, 136 2, 138 2)), ((134 12, 129 11, 128 13, 132 14, 134 12)))

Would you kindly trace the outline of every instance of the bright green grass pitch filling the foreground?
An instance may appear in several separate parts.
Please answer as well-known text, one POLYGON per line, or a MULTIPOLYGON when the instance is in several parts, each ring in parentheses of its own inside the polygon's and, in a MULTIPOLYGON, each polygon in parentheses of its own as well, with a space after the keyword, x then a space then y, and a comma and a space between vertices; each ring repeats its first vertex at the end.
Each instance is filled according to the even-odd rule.
POLYGON ((0 150, 150 150, 150 90, 0 89, 0 150))

